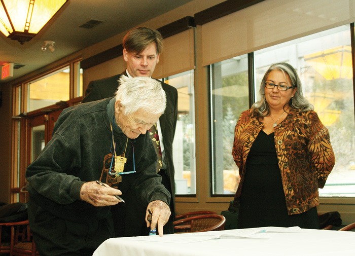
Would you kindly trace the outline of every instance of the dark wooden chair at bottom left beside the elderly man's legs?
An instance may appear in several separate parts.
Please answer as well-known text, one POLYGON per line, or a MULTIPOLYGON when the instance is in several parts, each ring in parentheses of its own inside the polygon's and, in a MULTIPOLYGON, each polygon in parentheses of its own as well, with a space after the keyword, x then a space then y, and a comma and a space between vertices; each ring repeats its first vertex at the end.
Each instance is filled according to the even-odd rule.
POLYGON ((2 227, 10 227, 10 248, 4 247, 1 252, 10 253, 10 256, 39 255, 32 239, 28 220, 21 222, 0 223, 2 227))

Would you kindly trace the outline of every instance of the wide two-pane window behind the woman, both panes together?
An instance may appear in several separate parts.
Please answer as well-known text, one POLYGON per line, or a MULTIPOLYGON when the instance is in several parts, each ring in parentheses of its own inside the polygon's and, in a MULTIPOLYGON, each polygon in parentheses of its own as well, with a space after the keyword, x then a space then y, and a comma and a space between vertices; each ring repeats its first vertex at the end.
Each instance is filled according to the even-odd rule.
MULTIPOLYGON (((330 132, 336 164, 325 188, 319 190, 321 196, 355 196, 350 42, 350 28, 344 25, 254 52, 254 91, 259 92, 262 77, 272 63, 290 63, 302 80, 303 94, 330 132)), ((231 150, 235 123, 239 114, 249 108, 246 59, 243 55, 211 65, 213 194, 234 193, 238 185, 231 150)), ((260 99, 258 93, 252 98, 260 99)))

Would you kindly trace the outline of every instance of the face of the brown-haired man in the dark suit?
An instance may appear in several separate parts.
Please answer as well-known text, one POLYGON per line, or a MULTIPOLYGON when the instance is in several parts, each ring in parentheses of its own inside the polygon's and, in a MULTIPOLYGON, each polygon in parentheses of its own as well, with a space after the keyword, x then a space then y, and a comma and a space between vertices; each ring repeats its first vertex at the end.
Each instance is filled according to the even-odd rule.
POLYGON ((154 42, 140 53, 127 52, 123 49, 123 58, 132 77, 152 77, 155 65, 159 62, 159 54, 154 42))

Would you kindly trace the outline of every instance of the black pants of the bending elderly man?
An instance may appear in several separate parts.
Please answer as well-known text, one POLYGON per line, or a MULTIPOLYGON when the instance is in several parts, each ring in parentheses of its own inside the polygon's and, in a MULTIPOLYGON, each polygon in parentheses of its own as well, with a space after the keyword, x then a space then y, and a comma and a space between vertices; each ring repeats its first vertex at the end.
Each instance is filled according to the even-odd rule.
POLYGON ((28 218, 41 256, 91 256, 103 241, 114 237, 111 216, 89 223, 70 222, 44 211, 30 200, 28 218))

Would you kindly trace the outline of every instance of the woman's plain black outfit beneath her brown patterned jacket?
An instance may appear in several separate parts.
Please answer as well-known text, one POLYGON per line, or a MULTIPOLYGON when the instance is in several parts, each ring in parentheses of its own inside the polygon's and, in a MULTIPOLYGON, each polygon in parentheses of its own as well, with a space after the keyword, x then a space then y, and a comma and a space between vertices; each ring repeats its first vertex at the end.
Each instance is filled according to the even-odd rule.
POLYGON ((260 131, 246 160, 238 228, 269 226, 318 229, 318 216, 316 207, 288 215, 274 133, 260 131))

